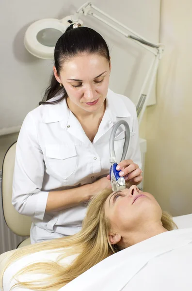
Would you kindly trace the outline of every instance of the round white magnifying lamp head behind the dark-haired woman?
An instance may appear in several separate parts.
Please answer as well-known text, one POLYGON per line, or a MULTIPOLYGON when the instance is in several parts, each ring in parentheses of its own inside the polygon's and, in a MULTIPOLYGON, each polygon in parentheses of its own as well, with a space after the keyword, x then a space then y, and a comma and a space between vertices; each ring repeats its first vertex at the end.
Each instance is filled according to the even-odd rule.
MULTIPOLYGON (((35 21, 25 32, 25 48, 37 58, 53 60, 56 42, 67 27, 75 23, 72 19, 72 16, 66 16, 61 20, 48 18, 35 21)), ((78 23, 83 24, 80 19, 78 23)))

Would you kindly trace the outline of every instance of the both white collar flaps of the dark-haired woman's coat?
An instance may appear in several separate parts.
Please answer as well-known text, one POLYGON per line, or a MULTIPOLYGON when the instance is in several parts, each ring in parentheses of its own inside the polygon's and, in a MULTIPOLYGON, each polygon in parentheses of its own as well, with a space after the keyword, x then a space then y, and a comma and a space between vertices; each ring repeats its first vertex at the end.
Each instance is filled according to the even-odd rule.
MULTIPOLYGON (((54 97, 51 100, 54 101, 61 96, 54 97)), ((67 106, 66 99, 53 105, 41 105, 42 107, 42 119, 45 123, 52 123, 62 121, 62 125, 66 126, 70 110, 67 106)), ((125 103, 123 102, 119 94, 115 94, 112 90, 108 89, 107 93, 107 110, 111 112, 113 121, 114 117, 129 117, 131 116, 125 103)))

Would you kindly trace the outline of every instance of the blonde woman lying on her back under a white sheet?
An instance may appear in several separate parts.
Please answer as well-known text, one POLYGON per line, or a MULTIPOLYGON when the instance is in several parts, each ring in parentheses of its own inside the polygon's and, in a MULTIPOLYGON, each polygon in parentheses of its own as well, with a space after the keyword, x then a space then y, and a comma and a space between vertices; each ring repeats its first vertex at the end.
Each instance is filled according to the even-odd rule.
POLYGON ((79 233, 16 250, 1 289, 192 290, 192 228, 175 228, 153 195, 135 185, 104 190, 89 203, 79 233))

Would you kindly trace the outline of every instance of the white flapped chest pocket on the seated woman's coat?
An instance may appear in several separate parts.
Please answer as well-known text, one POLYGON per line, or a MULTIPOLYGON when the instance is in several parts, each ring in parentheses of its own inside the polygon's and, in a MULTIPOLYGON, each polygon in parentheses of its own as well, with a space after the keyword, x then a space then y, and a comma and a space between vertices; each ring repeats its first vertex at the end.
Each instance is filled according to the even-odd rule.
POLYGON ((47 145, 46 166, 63 180, 69 178, 77 166, 77 153, 74 145, 47 145))

